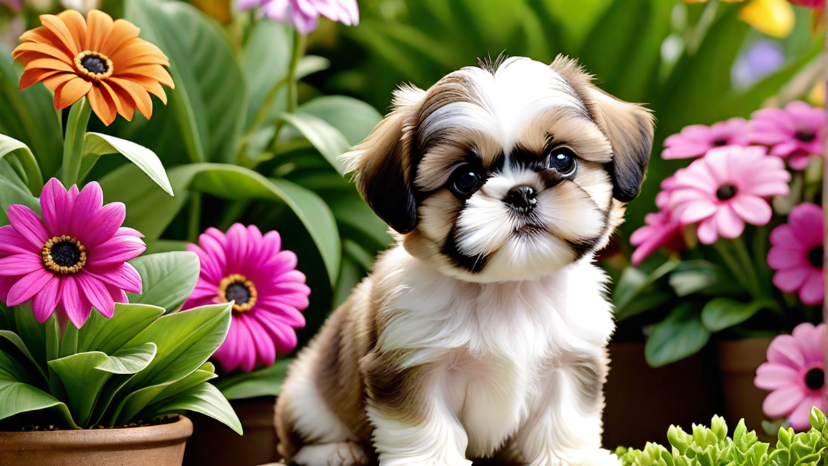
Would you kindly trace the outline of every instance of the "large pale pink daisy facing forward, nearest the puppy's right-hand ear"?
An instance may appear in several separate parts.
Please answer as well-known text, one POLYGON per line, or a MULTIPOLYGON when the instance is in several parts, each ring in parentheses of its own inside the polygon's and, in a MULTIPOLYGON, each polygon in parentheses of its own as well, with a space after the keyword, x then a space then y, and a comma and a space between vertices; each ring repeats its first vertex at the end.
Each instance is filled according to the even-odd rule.
POLYGON ((791 174, 761 147, 725 146, 676 172, 669 206, 682 226, 699 223, 701 243, 742 235, 744 223, 762 226, 773 211, 767 198, 788 193, 791 174))

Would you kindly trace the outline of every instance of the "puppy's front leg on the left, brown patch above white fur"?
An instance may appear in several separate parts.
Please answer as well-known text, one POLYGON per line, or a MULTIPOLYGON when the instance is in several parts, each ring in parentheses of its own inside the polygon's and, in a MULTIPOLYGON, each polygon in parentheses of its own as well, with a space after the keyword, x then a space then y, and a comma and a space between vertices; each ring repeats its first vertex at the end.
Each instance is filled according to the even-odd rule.
POLYGON ((380 466, 470 466, 469 439, 450 407, 445 372, 400 366, 406 359, 373 352, 362 362, 380 466))

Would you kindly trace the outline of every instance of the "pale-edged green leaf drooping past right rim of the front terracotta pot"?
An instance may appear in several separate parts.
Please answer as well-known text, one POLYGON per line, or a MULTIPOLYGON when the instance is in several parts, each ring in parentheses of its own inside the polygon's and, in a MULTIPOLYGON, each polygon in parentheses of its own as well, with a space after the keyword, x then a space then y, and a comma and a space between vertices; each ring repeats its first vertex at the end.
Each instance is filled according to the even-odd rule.
POLYGON ((219 389, 206 382, 172 396, 158 405, 152 405, 143 417, 153 419, 163 415, 181 414, 185 411, 207 415, 227 425, 237 434, 243 434, 242 423, 238 420, 233 407, 219 389))

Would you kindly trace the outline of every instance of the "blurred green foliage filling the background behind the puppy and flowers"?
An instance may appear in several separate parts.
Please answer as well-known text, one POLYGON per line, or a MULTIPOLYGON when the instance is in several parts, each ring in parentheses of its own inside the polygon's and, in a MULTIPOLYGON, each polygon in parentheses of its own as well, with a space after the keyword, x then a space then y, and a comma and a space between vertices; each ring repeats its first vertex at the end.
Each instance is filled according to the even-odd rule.
MULTIPOLYGON (((38 13, 62 9, 36 0, 12 17, 3 3, 4 54, 39 24, 38 13)), ((794 7, 793 32, 774 38, 739 21, 739 3, 717 0, 360 0, 359 27, 323 21, 307 37, 306 55, 291 63, 305 44, 289 27, 234 12, 229 0, 185 3, 103 0, 100 7, 142 27, 170 56, 176 90, 150 121, 136 115, 129 124, 90 128, 152 148, 176 197, 121 158, 102 158, 88 179, 99 179, 108 201, 127 203, 127 224, 147 235, 151 250, 181 249, 208 226, 226 229, 233 221, 280 231, 313 290, 300 346, 391 241, 335 157, 378 123, 397 85, 427 88, 479 57, 549 62, 562 53, 602 89, 647 104, 657 117, 653 158, 612 246, 627 254, 607 262, 618 274, 628 233, 652 211, 659 183, 689 162, 660 159, 664 138, 688 124, 804 99, 825 80, 824 34, 801 7, 794 7), (775 51, 773 63, 768 54, 756 58, 758 46, 775 51), (297 95, 282 85, 291 70, 301 77, 297 95)), ((60 118, 42 85, 17 90, 19 74, 0 60, 0 133, 44 154, 43 174, 51 177, 60 165, 60 118)), ((640 335, 641 326, 633 327, 640 335)))

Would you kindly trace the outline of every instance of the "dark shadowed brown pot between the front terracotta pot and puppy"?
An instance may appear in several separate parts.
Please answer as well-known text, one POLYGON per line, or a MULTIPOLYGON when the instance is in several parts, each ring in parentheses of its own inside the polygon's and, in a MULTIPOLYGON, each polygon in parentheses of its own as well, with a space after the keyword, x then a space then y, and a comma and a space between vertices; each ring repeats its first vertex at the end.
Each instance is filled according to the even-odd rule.
POLYGON ((231 400, 230 405, 242 422, 244 435, 217 420, 193 414, 195 431, 184 455, 185 466, 258 466, 282 459, 276 451, 273 423, 276 397, 231 400))

